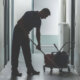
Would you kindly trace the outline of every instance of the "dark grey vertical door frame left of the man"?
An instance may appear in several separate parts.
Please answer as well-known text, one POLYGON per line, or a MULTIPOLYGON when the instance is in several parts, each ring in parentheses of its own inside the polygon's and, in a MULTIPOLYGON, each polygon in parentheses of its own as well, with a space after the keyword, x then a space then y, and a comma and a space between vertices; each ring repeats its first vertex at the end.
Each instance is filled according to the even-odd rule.
POLYGON ((4 65, 9 61, 9 0, 4 4, 4 65))

